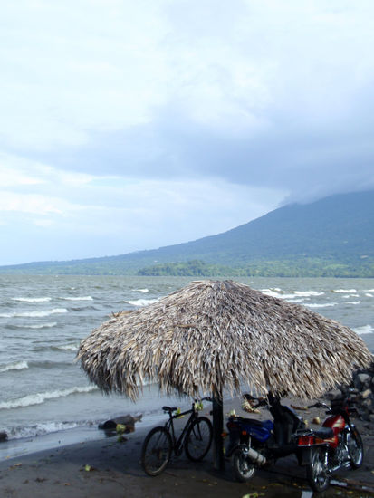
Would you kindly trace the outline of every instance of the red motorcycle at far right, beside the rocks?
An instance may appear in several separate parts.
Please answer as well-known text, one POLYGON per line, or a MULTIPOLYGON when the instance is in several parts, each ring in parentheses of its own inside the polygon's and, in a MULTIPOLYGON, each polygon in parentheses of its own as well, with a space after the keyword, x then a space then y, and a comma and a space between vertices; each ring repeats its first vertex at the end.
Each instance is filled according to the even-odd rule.
POLYGON ((312 489, 317 492, 325 490, 331 480, 331 475, 342 469, 357 469, 363 462, 363 444, 360 433, 350 422, 350 414, 358 413, 354 407, 355 401, 350 395, 331 401, 331 407, 318 402, 312 407, 327 408, 327 417, 321 431, 299 436, 299 447, 310 447, 310 461, 306 467, 306 475, 312 489))

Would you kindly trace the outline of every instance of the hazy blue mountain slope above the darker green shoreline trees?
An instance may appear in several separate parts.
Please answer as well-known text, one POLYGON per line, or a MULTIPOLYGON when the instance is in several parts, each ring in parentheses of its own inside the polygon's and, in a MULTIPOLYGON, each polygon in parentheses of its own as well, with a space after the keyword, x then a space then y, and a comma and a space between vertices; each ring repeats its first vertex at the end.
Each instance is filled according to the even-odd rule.
POLYGON ((254 263, 264 266, 265 262, 300 265, 316 260, 367 267, 374 261, 374 192, 283 206, 223 234, 185 244, 105 258, 0 267, 0 272, 136 273, 155 263, 191 259, 236 268, 254 263))

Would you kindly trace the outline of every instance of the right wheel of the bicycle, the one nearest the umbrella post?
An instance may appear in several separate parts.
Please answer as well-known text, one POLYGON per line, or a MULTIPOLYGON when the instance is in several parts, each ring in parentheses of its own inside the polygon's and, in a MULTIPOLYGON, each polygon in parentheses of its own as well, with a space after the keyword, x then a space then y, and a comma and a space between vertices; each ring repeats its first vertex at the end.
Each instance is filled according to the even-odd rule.
POLYGON ((206 417, 196 418, 188 427, 185 439, 187 457, 193 462, 202 460, 212 444, 213 427, 206 417))

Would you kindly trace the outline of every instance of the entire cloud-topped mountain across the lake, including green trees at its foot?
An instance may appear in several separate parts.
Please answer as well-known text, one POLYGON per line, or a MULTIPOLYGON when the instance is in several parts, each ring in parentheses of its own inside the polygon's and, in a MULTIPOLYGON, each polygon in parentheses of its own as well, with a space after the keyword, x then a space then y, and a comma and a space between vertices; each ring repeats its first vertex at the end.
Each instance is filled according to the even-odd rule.
POLYGON ((374 192, 275 209, 224 234, 152 251, 0 273, 374 277, 374 192))

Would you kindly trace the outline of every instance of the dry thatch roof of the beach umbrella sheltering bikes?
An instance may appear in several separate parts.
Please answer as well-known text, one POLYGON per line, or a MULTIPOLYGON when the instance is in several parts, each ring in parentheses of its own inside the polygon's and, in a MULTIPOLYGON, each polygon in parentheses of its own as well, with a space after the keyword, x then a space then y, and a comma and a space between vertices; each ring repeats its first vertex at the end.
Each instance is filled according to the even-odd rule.
POLYGON ((189 396, 244 387, 312 398, 372 355, 338 321, 242 283, 203 281, 113 315, 82 340, 78 359, 99 388, 132 399, 146 382, 189 396))

